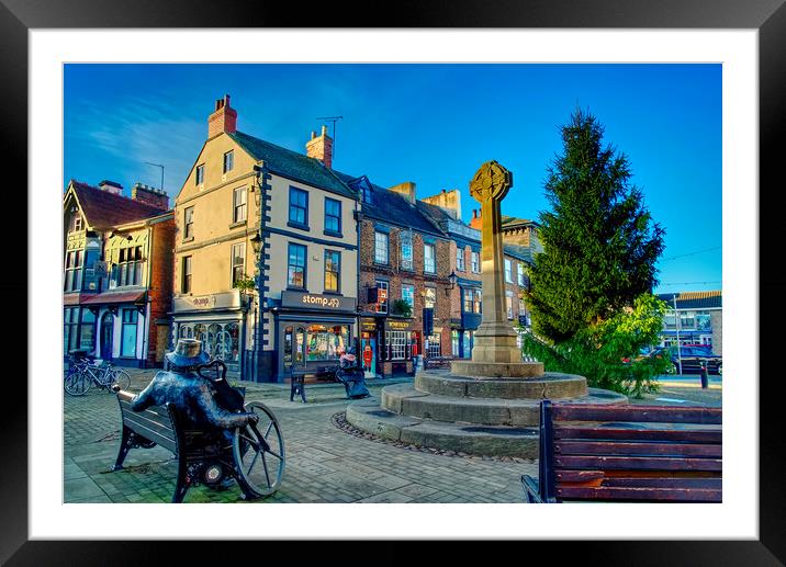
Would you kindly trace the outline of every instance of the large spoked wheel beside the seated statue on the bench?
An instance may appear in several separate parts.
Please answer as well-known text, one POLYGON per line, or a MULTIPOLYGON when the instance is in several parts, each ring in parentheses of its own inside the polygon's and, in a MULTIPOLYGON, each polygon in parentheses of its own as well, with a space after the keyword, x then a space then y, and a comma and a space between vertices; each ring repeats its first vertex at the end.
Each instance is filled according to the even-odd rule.
POLYGON ((246 411, 259 418, 256 424, 235 429, 232 443, 238 483, 247 495, 259 498, 273 494, 284 474, 284 438, 279 421, 265 404, 246 404, 246 411))

